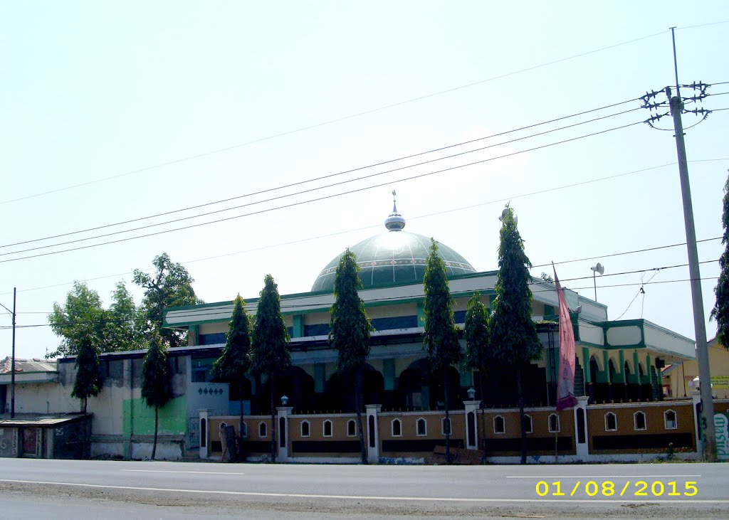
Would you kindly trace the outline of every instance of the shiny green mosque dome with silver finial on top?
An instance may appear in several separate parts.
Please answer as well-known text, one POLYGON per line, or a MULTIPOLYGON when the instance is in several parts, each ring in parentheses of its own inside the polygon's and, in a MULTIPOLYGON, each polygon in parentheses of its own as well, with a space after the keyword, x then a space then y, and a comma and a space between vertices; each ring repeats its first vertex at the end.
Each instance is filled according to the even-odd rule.
MULTIPOLYGON (((385 221, 388 232, 362 240, 349 248, 359 265, 359 277, 364 288, 399 283, 422 283, 428 259, 430 239, 401 231, 405 218, 397 208, 385 221)), ((448 277, 476 272, 463 256, 447 245, 438 243, 440 257, 445 261, 448 277)), ((342 252, 343 253, 343 252, 342 252)), ((316 278, 311 291, 334 291, 334 277, 342 255, 332 259, 316 278)))

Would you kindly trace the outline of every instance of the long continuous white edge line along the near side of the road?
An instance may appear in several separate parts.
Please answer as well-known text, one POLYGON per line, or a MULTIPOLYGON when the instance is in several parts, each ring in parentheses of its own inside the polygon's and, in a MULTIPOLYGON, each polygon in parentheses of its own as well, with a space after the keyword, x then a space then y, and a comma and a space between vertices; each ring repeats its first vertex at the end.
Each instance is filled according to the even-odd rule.
POLYGON ((139 486, 109 486, 104 484, 79 484, 78 482, 49 482, 34 480, 15 480, 11 478, 0 478, 0 482, 9 482, 11 484, 45 484, 52 486, 74 486, 74 487, 93 487, 97 489, 128 489, 131 491, 165 491, 175 493, 196 493, 208 495, 237 495, 244 497, 276 497, 276 498, 331 498, 338 500, 410 500, 418 502, 470 502, 470 503, 494 503, 494 502, 514 502, 514 503, 655 503, 655 504, 729 504, 729 500, 583 500, 574 498, 456 498, 456 497, 382 497, 378 495, 310 495, 307 493, 268 493, 254 491, 221 491, 217 489, 174 489, 165 487, 139 487, 139 486))

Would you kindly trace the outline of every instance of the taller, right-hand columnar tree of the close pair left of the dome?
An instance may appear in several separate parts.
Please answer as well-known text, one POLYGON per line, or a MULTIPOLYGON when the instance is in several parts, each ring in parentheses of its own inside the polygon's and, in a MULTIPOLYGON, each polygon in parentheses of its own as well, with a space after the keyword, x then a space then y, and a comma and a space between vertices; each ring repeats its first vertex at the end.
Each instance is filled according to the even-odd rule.
POLYGON ((253 328, 253 374, 268 376, 271 405, 271 462, 276 462, 276 406, 273 403, 274 382, 291 366, 291 354, 286 348, 289 331, 281 315, 281 296, 273 276, 266 275, 258 300, 256 323, 253 328))

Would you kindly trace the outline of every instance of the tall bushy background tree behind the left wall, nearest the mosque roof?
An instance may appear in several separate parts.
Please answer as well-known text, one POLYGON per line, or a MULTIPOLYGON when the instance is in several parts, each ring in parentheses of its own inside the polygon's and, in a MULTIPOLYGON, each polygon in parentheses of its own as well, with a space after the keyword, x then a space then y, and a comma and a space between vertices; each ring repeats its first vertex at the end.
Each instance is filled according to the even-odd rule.
POLYGON ((165 307, 194 305, 203 301, 195 296, 192 288, 195 280, 190 273, 182 264, 171 261, 167 253, 155 256, 152 265, 155 267, 153 275, 134 269, 133 276, 133 282, 144 288, 141 309, 147 318, 147 329, 156 330, 169 347, 182 347, 187 341, 187 333, 174 328, 163 328, 163 310, 165 307))

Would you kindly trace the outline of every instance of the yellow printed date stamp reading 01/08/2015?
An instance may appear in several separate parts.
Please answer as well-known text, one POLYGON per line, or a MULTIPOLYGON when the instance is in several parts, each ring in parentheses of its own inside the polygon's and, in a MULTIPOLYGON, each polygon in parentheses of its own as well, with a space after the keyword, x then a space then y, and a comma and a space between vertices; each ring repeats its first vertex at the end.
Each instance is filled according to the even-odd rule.
POLYGON ((636 480, 617 482, 612 480, 578 480, 573 482, 537 482, 539 497, 695 497, 697 481, 636 480))

